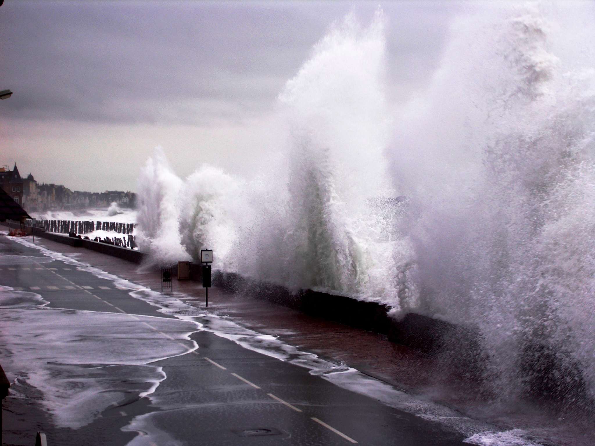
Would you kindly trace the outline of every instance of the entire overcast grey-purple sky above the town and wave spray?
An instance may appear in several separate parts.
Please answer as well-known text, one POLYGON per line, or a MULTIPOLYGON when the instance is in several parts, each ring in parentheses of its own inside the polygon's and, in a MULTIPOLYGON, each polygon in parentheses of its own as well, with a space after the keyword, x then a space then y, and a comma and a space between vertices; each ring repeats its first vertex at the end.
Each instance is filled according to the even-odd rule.
POLYGON ((387 18, 390 103, 425 86, 462 4, 18 1, 0 8, 0 165, 73 190, 135 190, 161 145, 249 175, 287 80, 333 21, 387 18))

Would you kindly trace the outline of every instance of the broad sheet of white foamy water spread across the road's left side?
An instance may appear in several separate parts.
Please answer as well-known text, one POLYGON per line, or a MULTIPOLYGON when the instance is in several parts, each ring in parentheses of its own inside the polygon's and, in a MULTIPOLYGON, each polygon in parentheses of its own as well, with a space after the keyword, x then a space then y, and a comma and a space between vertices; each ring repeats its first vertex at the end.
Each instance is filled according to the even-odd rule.
POLYGON ((153 394, 166 376, 152 363, 198 348, 190 340, 196 322, 48 303, 39 294, 0 287, 2 363, 11 392, 37 388, 61 427, 80 428, 113 404, 153 394))

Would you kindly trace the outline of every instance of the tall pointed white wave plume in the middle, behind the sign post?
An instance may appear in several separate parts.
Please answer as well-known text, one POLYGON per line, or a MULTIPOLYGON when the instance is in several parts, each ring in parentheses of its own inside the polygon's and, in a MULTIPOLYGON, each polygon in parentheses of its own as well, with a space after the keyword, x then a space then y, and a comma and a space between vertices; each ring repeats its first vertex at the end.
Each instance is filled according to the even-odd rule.
POLYGON ((384 21, 336 24, 280 95, 286 158, 283 203, 263 219, 259 271, 314 288, 399 306, 397 203, 387 175, 384 21), (278 236, 270 239, 271 228, 278 236), (278 268, 278 265, 282 265, 278 268))

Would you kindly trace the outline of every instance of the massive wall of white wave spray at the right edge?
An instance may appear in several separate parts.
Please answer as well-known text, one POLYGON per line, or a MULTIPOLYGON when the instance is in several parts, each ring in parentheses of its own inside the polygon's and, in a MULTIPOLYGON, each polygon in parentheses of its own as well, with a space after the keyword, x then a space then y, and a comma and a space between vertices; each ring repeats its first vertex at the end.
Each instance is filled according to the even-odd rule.
POLYGON ((457 23, 391 150, 417 213, 417 310, 478 326, 503 398, 581 385, 570 373, 554 391, 536 363, 578 368, 595 391, 593 72, 563 51, 555 12, 569 14, 530 5, 457 23))

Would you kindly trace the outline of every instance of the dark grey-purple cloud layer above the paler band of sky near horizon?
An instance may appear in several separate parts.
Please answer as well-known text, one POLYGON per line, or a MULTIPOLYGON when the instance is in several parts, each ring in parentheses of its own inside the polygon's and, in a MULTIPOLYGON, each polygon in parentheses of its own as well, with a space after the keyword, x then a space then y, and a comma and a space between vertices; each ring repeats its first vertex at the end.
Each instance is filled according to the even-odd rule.
MULTIPOLYGON (((5 117, 206 124, 267 111, 312 45, 372 2, 5 2, 5 117)), ((383 4, 390 94, 430 76, 450 4, 383 4)))

